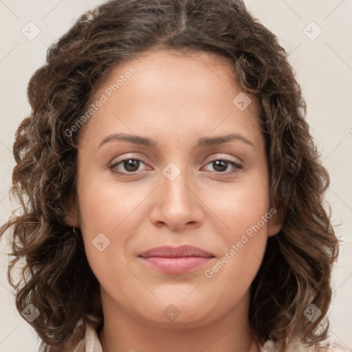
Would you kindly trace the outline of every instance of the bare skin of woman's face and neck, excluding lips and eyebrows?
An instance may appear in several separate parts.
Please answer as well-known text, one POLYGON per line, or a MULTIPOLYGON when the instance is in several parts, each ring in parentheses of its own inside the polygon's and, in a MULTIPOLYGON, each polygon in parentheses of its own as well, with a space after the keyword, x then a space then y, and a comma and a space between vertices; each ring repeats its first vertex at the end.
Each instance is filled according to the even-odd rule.
MULTIPOLYGON (((240 111, 241 92, 224 58, 159 50, 121 63, 96 97, 134 67, 80 131, 76 203, 69 223, 81 228, 89 265, 101 285, 104 352, 259 351, 248 322, 249 289, 261 266, 267 237, 280 230, 271 217, 211 278, 221 260, 251 225, 270 212, 265 140, 258 105, 240 111), (113 133, 148 137, 157 147, 113 133), (198 147, 201 137, 238 133, 242 140, 198 147), (122 159, 140 160, 127 170, 122 159), (222 169, 214 161, 231 159, 222 169), (181 172, 168 179, 173 162, 181 172), (120 170, 118 175, 113 170, 120 170), (224 175, 224 173, 235 173, 224 175), (103 233, 102 252, 92 244, 103 233), (194 245, 214 254, 186 274, 147 267, 138 254, 159 245, 194 245), (179 316, 163 311, 174 305, 179 316)), ((172 171, 173 173, 175 170, 172 171)))

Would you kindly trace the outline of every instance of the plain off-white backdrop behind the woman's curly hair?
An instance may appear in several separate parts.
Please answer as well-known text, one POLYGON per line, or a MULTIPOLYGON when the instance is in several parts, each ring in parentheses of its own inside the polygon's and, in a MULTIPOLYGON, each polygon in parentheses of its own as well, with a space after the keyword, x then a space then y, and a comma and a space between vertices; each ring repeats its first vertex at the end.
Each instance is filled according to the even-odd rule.
MULTIPOLYGON (((17 126, 30 113, 26 97, 28 80, 45 63, 47 47, 81 13, 102 2, 0 0, 0 223, 8 219, 16 206, 8 197, 14 166, 12 144, 17 126), (36 32, 39 34, 32 39, 30 35, 36 32)), ((331 176, 327 201, 336 233, 344 242, 333 272, 330 335, 352 351, 352 0, 245 3, 289 52, 289 61, 308 104, 311 133, 331 176)), ((0 352, 38 351, 34 330, 14 306, 6 278, 6 245, 1 241, 0 352)))

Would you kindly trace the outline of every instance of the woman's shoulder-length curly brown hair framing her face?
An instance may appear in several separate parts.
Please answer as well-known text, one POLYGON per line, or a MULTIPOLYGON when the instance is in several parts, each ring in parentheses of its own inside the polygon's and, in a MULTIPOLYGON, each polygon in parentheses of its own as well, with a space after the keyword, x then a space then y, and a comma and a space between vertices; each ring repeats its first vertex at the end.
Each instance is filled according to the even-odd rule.
POLYGON ((79 137, 65 131, 116 65, 158 48, 227 58, 236 83, 258 99, 270 199, 281 231, 268 239, 251 285, 250 325, 261 345, 272 339, 285 351, 299 338, 318 347, 327 339, 339 244, 325 210, 329 175, 309 133, 306 103, 287 52, 236 0, 109 1, 83 14, 49 48, 47 63, 28 85, 32 113, 21 122, 13 146, 11 192, 21 214, 13 213, 0 229, 0 235, 12 234, 8 278, 17 309, 30 303, 39 309, 31 325, 43 351, 63 351, 79 321, 97 316, 102 326, 99 283, 80 230, 65 220, 76 195, 79 137), (15 281, 12 270, 20 259, 25 265, 15 281), (304 314, 311 304, 322 311, 314 322, 304 314))

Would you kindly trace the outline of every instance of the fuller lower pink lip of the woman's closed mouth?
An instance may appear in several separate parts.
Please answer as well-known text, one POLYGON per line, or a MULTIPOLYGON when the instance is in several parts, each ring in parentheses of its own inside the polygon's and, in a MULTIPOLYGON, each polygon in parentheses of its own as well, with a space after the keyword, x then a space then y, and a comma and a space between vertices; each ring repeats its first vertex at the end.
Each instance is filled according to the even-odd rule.
POLYGON ((143 261, 148 267, 159 272, 166 274, 184 274, 186 272, 192 272, 197 270, 199 267, 208 264, 213 257, 204 256, 184 256, 178 258, 168 258, 164 256, 149 256, 143 258, 143 261))

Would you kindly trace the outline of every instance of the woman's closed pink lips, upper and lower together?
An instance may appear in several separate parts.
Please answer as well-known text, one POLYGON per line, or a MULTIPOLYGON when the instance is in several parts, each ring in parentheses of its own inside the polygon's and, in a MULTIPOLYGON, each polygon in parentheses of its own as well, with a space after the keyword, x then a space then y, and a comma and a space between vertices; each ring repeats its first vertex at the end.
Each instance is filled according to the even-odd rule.
POLYGON ((151 248, 139 255, 148 267, 167 274, 183 274, 206 265, 214 255, 192 245, 151 248))

